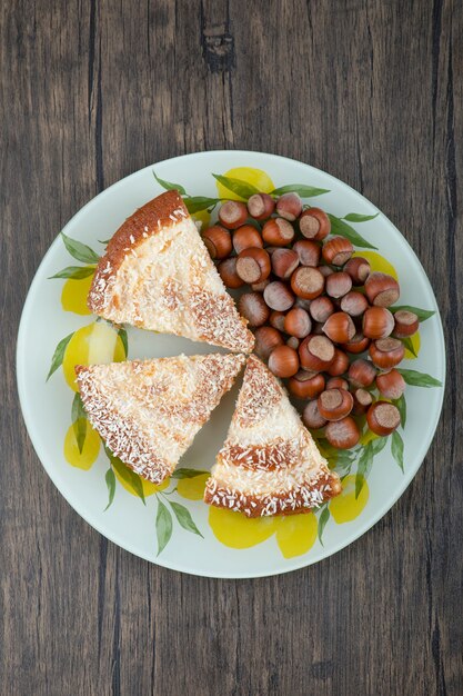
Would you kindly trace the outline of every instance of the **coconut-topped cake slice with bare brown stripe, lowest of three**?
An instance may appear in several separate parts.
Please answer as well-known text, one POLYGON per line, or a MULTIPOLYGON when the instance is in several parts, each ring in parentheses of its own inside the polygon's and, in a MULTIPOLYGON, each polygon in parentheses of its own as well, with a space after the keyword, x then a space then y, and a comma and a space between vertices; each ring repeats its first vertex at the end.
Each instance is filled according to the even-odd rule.
POLYGON ((248 517, 306 513, 341 493, 279 380, 250 356, 229 434, 208 479, 209 505, 248 517))

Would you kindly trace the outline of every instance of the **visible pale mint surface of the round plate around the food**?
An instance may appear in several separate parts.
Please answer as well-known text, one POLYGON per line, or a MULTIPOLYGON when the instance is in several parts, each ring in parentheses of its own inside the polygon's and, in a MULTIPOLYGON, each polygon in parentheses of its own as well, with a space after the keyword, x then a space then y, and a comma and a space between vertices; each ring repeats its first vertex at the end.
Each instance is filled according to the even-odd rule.
MULTIPOLYGON (((182 185, 190 196, 217 198, 217 181, 212 172, 224 175, 236 167, 263 170, 271 177, 275 188, 302 183, 328 189, 329 192, 311 198, 310 203, 320 206, 339 218, 351 212, 365 216, 379 212, 371 202, 342 181, 302 162, 260 152, 212 151, 159 162, 114 183, 84 206, 67 225, 64 232, 101 253, 103 247, 98 240, 110 238, 135 208, 162 192, 161 186, 153 178, 153 170, 161 179, 182 185)), ((231 176, 244 178, 246 170, 231 176)), ((252 180, 255 182, 255 179, 252 180)), ((400 304, 436 312, 421 326, 422 347, 417 359, 406 360, 402 367, 431 374, 443 384, 445 354, 442 326, 433 291, 420 261, 402 235, 381 212, 373 220, 350 225, 378 247, 379 252, 394 266, 402 290, 400 304)), ((99 457, 89 470, 67 463, 63 439, 71 424, 73 395, 64 381, 61 368, 46 382, 57 344, 94 319, 64 311, 61 291, 66 281, 48 279, 60 269, 72 265, 80 264, 70 257, 59 237, 43 258, 24 305, 18 337, 19 394, 29 435, 49 476, 79 515, 108 539, 150 561, 195 575, 240 578, 286 573, 316 563, 359 538, 385 515, 412 480, 437 425, 443 399, 442 387, 407 386, 407 420, 402 430, 404 471, 394 461, 387 443, 374 458, 368 476, 369 495, 366 496, 365 487, 359 497, 363 509, 360 511, 362 505, 359 501, 352 504, 351 500, 348 517, 353 517, 354 513, 356 516, 350 521, 341 521, 342 510, 331 508, 322 535, 323 545, 315 538, 320 514, 318 517, 294 516, 276 521, 242 520, 240 516, 230 520, 230 515, 235 514, 225 514, 222 517, 215 515, 213 529, 209 508, 201 500, 187 499, 179 491, 165 497, 153 494, 147 497, 144 506, 119 480, 114 500, 103 511, 108 504, 104 479, 109 466, 107 456, 100 448, 99 457), (171 509, 168 500, 187 507, 203 538, 183 529, 172 515, 171 539, 157 556, 157 515, 160 499, 168 509, 171 509), (221 538, 230 535, 232 544, 250 546, 232 548, 219 540, 214 530, 221 538), (265 536, 265 540, 258 543, 265 536)), ((128 329, 128 334, 130 358, 173 356, 182 351, 194 355, 214 350, 212 347, 177 337, 135 329, 128 329)), ((225 437, 235 396, 236 388, 223 399, 211 421, 197 436, 192 448, 183 457, 181 467, 211 467, 225 437)), ((353 473, 355 467, 354 463, 353 473)), ((183 494, 184 488, 193 480, 180 484, 183 494)), ((197 479, 197 483, 200 480, 197 479)), ((172 479, 167 493, 178 484, 179 481, 172 479)), ((328 516, 328 513, 324 515, 328 516)))

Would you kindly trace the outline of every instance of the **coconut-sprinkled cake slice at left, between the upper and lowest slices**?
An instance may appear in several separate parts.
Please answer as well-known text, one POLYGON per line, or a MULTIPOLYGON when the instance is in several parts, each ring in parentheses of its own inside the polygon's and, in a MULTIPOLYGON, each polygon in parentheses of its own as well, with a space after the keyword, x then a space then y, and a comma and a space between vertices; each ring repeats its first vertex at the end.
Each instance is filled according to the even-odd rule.
POLYGON ((231 388, 242 355, 76 366, 83 407, 109 449, 143 478, 172 474, 231 388))

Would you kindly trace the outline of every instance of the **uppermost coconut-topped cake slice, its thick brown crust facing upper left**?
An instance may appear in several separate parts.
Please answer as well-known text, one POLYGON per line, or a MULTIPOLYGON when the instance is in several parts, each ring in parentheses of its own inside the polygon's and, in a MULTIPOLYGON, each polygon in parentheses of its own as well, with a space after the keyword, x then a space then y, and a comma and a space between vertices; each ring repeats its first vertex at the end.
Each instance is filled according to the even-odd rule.
POLYGON ((92 312, 142 329, 251 352, 254 337, 213 265, 178 191, 118 229, 90 288, 92 312))

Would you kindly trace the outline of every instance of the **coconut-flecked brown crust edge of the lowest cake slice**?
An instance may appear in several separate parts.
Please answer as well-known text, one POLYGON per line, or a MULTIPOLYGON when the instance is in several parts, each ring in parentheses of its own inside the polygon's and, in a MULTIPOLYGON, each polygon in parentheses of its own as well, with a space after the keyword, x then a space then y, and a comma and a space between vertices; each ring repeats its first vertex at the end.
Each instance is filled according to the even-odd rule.
POLYGON ((268 517, 271 515, 295 515, 310 513, 323 503, 339 495, 341 483, 336 474, 323 473, 313 481, 284 493, 256 496, 242 494, 210 478, 205 486, 204 501, 208 505, 228 510, 244 513, 246 517, 268 517))

